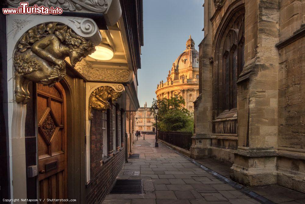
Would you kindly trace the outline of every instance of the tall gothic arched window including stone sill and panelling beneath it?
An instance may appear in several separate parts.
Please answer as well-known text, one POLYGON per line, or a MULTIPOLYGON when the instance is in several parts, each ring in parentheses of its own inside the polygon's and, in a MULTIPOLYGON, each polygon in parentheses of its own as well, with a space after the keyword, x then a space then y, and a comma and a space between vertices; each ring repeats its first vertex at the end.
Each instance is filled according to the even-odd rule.
POLYGON ((237 81, 245 65, 245 8, 232 9, 217 28, 214 46, 213 133, 237 134, 237 81))

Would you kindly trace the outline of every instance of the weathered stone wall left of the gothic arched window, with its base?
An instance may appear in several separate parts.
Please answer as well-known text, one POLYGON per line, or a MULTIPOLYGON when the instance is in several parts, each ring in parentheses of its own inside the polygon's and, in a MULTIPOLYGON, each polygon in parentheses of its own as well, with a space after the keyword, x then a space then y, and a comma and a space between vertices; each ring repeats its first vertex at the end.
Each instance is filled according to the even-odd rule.
MULTIPOLYGON (((204 2, 204 39, 199 44, 199 96, 194 102, 195 134, 193 136, 191 157, 215 158, 218 160, 234 161, 234 153, 237 149, 237 134, 222 134, 217 131, 225 124, 235 121, 215 120, 215 38, 219 33, 219 26, 223 22, 226 10, 231 6, 232 0, 224 1, 221 9, 216 9, 213 0, 204 2)), ((241 1, 242 3, 244 1, 241 1)), ((234 6, 233 6, 234 7, 234 6)))

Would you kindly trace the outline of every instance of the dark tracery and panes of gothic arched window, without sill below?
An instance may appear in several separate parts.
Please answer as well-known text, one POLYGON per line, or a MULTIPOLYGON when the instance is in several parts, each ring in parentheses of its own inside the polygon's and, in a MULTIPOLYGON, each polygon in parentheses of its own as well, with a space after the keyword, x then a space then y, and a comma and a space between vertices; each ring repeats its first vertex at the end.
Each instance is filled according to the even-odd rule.
POLYGON ((223 33, 219 49, 218 114, 237 108, 237 80, 245 64, 244 14, 231 19, 229 26, 223 33))

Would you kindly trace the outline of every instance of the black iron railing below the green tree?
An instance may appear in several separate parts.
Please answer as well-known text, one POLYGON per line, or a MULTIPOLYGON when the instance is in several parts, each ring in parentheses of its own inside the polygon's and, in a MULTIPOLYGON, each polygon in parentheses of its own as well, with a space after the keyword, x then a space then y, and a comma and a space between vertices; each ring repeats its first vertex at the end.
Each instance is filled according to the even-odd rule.
POLYGON ((192 132, 158 132, 158 139, 188 151, 192 145, 192 136, 192 132))

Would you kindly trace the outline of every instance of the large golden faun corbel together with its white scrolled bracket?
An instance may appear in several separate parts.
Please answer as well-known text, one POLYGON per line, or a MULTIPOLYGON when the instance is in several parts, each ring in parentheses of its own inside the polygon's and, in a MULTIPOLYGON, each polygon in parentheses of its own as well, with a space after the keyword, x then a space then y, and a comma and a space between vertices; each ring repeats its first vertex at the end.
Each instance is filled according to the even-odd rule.
POLYGON ((27 20, 18 17, 21 18, 8 20, 13 21, 9 30, 13 31, 13 41, 17 45, 16 50, 12 50, 14 92, 15 101, 26 104, 30 98, 30 81, 53 86, 66 75, 63 60, 69 58, 74 66, 95 51, 95 45, 102 37, 95 22, 89 18, 48 17, 48 23, 44 23, 45 18, 34 15, 27 20))

